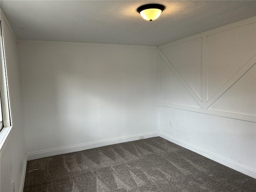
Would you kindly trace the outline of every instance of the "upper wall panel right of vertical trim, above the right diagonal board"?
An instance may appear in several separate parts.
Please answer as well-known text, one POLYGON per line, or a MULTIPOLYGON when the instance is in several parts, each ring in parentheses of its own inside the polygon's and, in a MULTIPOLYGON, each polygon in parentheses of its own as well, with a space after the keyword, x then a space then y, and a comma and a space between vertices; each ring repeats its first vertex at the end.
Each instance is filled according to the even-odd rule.
POLYGON ((208 100, 256 54, 256 24, 207 36, 208 100))

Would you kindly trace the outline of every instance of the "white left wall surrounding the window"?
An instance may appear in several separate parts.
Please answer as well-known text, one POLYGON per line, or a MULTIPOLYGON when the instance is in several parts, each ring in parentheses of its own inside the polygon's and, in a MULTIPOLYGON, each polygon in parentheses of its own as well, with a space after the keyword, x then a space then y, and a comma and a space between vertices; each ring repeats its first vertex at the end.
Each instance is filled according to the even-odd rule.
POLYGON ((1 20, 6 45, 6 66, 13 130, 0 158, 0 191, 10 192, 12 191, 12 180, 16 191, 19 191, 20 184, 22 185, 24 182, 26 152, 24 150, 17 43, 6 24, 6 19, 3 19, 2 13, 1 20))

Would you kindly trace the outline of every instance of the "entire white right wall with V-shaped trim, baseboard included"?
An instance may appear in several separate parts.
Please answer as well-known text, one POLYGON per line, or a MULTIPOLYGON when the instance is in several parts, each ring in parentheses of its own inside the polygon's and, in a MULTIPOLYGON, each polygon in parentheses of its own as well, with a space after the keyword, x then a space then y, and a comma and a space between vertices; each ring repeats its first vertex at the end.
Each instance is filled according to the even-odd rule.
POLYGON ((255 21, 159 47, 160 135, 254 178, 255 21))

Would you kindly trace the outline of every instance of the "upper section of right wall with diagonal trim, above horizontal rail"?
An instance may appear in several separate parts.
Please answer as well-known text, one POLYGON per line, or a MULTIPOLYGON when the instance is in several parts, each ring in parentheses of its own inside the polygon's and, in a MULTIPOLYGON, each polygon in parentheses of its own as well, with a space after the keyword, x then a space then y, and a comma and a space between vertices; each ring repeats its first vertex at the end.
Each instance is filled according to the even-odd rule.
MULTIPOLYGON (((173 72, 168 82, 162 80, 163 76, 168 79, 168 74, 160 74, 160 105, 193 106, 188 104, 192 96, 203 113, 209 108, 216 115, 222 111, 230 113, 227 117, 240 116, 242 120, 255 122, 255 34, 255 20, 250 18, 160 46, 160 58, 164 60, 161 62, 173 72), (175 76, 180 82, 171 80, 175 76), (184 92, 181 83, 188 96, 176 95, 181 90, 184 92)), ((160 69, 163 66, 161 64, 160 69)))

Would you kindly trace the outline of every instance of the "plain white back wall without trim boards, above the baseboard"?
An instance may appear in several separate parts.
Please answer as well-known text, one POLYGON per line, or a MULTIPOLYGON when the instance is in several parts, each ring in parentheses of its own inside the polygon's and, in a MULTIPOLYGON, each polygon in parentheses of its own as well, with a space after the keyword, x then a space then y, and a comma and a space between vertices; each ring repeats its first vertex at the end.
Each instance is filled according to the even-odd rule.
POLYGON ((18 53, 28 154, 158 131, 156 47, 20 41, 18 53))

